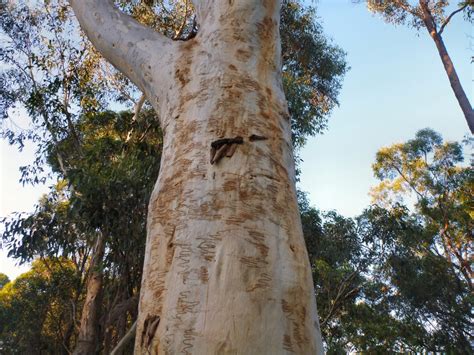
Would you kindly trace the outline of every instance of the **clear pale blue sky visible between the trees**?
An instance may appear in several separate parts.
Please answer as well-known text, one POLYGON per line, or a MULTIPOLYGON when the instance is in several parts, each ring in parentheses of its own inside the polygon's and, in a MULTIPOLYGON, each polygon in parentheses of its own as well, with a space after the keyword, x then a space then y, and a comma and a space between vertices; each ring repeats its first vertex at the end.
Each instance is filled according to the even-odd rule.
MULTIPOLYGON (((369 189, 377 184, 371 164, 378 149, 411 139, 425 127, 459 141, 468 127, 426 31, 386 24, 351 0, 316 5, 324 32, 347 52, 351 69, 327 131, 309 139, 301 152, 299 187, 316 208, 353 217, 370 204, 369 189)), ((455 16, 443 37, 472 103, 472 27, 455 16)), ((27 146, 19 153, 0 142, 0 216, 32 211, 47 192, 47 186, 18 182, 18 168, 32 160, 33 150, 27 146)), ((0 250, 0 272, 13 279, 26 270, 28 265, 15 265, 0 250)))

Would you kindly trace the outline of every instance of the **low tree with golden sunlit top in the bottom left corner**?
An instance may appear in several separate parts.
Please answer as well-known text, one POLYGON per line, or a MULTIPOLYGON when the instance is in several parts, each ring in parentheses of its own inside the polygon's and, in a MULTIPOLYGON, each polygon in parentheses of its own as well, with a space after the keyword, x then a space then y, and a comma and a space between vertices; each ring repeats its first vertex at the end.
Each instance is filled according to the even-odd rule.
POLYGON ((0 342, 8 354, 59 354, 74 342, 78 275, 67 259, 42 259, 0 289, 0 342))

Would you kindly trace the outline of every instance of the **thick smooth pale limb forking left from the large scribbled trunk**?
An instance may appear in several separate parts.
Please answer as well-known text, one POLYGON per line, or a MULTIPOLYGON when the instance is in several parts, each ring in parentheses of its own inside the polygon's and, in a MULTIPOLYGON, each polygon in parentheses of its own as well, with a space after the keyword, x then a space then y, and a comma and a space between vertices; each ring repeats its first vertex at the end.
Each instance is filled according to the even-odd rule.
MULTIPOLYGON (((145 94, 176 44, 118 10, 111 0, 69 0, 94 47, 145 94)), ((156 94, 156 93, 154 93, 156 94)))

